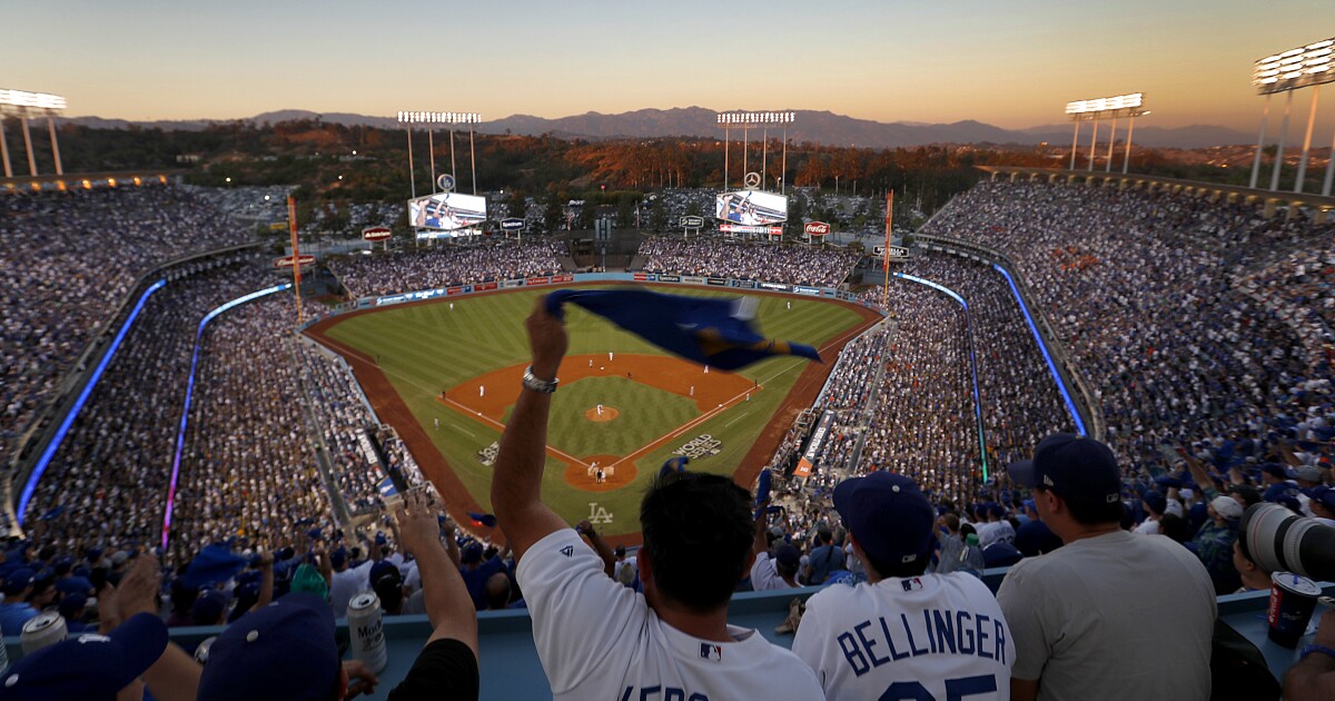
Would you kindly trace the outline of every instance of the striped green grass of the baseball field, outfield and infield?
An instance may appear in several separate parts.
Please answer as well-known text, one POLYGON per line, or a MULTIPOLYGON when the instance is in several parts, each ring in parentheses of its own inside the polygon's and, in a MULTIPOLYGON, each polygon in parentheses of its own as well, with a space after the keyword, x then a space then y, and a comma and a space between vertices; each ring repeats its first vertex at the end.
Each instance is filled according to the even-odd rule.
MULTIPOLYGON (((478 461, 478 451, 499 439, 501 433, 487 423, 443 406, 435 398, 443 390, 490 370, 526 365, 530 361, 530 351, 523 319, 533 311, 537 298, 546 291, 521 290, 388 307, 374 314, 347 318, 327 330, 330 338, 346 343, 379 363, 409 410, 431 437, 437 450, 485 509, 490 505, 491 469, 478 461)), ((655 291, 698 296, 738 296, 742 294, 738 290, 693 287, 655 287, 655 291)), ((758 326, 761 332, 769 338, 790 339, 821 347, 832 339, 848 334, 860 319, 853 310, 818 299, 766 294, 756 294, 754 296, 760 299, 758 326)), ((566 304, 566 328, 570 335, 569 354, 571 355, 605 354, 607 351, 663 355, 657 347, 638 336, 621 331, 601 316, 573 304, 566 304)), ((826 362, 834 362, 834 354, 826 353, 825 355, 826 362)), ((574 489, 565 482, 563 463, 549 459, 547 470, 543 474, 543 499, 571 523, 579 518, 587 518, 590 503, 597 503, 598 507, 614 514, 614 521, 605 526, 605 533, 637 533, 639 527, 635 514, 639 509, 642 486, 658 470, 662 461, 689 439, 710 434, 724 442, 722 453, 694 461, 692 469, 733 474, 740 467, 737 461, 754 445, 806 362, 792 357, 776 357, 742 369, 741 375, 758 381, 765 390, 756 393, 752 401, 720 413, 680 438, 674 438, 669 445, 635 461, 638 477, 626 489, 599 494, 574 489)), ((587 378, 571 383, 569 387, 562 387, 555 399, 565 403, 567 395, 578 394, 579 385, 595 379, 587 378)), ((663 395, 680 398, 638 383, 623 383, 622 390, 639 391, 631 387, 655 393, 655 398, 649 399, 649 403, 657 402, 663 395)), ((630 394, 626 394, 623 399, 619 391, 613 397, 613 389, 607 390, 607 403, 621 409, 621 405, 631 401, 630 394)), ((519 387, 487 387, 487 394, 491 393, 506 393, 517 397, 519 387)), ((571 403, 578 405, 579 398, 575 397, 571 403)), ((587 406, 591 405, 586 405, 585 409, 587 406)), ((653 426, 653 423, 646 422, 645 426, 653 426, 643 430, 649 438, 625 449, 618 446, 625 446, 633 439, 626 439, 619 434, 617 430, 619 419, 609 422, 607 430, 598 430, 583 421, 582 410, 573 409, 569 417, 565 411, 553 417, 549 441, 553 446, 567 450, 577 457, 627 454, 698 415, 694 406, 688 406, 688 410, 690 413, 682 421, 677 421, 678 414, 662 410, 661 419, 668 423, 653 426), (567 445, 577 447, 569 450, 565 447, 567 445)))

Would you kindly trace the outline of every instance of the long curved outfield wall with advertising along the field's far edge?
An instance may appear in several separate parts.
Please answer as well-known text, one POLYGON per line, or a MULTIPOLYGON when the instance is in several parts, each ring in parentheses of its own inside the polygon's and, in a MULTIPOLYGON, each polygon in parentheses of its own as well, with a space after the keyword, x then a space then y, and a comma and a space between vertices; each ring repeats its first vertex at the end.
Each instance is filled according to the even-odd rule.
POLYGON ((358 311, 375 307, 387 307, 392 304, 402 304, 405 302, 422 302, 426 299, 439 299, 439 298, 457 298, 467 296, 485 292, 495 292, 499 290, 522 290, 529 287, 553 287, 565 284, 586 284, 598 282, 641 282, 641 283, 655 283, 655 284, 682 284, 688 287, 709 287, 720 290, 737 290, 745 292, 772 292, 772 294, 789 294, 789 295, 805 295, 822 299, 837 299, 840 302, 849 302, 853 304, 860 304, 866 307, 881 316, 885 316, 885 310, 864 302, 853 292, 846 290, 834 290, 832 287, 813 287, 806 284, 789 284, 780 282, 768 280, 738 280, 734 278, 710 278, 698 275, 672 275, 672 274, 658 274, 658 272, 577 272, 565 275, 537 275, 533 278, 514 278, 509 280, 491 280, 475 284, 451 284, 449 287, 437 287, 433 290, 418 290, 413 292, 399 292, 392 295, 379 295, 379 296, 362 296, 352 302, 344 302, 334 307, 334 311, 319 319, 311 319, 302 326, 307 328, 311 324, 327 319, 330 316, 336 316, 348 311, 358 311))

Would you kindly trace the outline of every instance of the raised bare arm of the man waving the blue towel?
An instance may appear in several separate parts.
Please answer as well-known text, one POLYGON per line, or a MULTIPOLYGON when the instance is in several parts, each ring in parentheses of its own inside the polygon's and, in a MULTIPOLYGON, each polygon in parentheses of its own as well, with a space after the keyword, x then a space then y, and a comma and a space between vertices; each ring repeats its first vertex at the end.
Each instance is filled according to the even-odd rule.
MULTIPOLYGON (((566 354, 566 327, 543 307, 539 298, 525 324, 533 348, 533 375, 542 382, 557 379, 557 369, 566 354)), ((546 463, 547 413, 551 395, 519 390, 519 399, 510 414, 510 423, 501 435, 495 470, 491 474, 491 507, 505 531, 506 543, 515 559, 546 535, 569 527, 547 505, 542 503, 542 470, 546 463)))

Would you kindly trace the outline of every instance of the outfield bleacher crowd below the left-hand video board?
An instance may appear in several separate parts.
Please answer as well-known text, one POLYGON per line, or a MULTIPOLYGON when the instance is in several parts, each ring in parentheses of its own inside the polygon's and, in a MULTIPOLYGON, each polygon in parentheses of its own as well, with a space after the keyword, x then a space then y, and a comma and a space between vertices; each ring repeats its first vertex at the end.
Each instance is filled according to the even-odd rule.
POLYGON ((510 278, 555 275, 563 240, 529 238, 478 246, 437 246, 421 252, 351 256, 330 270, 352 296, 434 290, 510 278))

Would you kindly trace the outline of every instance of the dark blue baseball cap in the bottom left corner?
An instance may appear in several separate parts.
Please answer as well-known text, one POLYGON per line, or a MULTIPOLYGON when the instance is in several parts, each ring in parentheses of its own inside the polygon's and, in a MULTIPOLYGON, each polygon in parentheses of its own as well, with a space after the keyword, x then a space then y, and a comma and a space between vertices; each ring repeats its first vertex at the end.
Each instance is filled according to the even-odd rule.
POLYGON ((19 660, 0 681, 5 701, 112 701, 167 649, 167 624, 140 613, 108 636, 84 634, 19 660))

